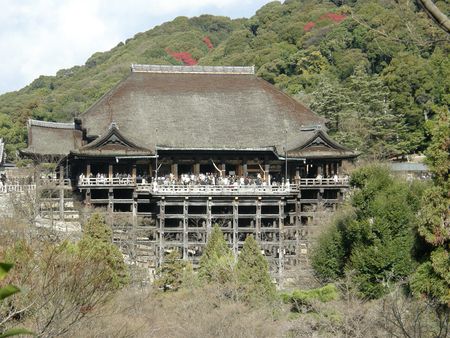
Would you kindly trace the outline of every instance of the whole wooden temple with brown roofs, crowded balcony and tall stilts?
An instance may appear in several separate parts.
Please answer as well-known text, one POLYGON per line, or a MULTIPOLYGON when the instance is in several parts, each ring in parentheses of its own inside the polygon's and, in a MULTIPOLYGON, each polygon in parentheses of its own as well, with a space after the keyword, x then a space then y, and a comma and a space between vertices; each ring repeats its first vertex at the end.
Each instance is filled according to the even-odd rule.
POLYGON ((218 224, 235 254, 252 234, 283 277, 357 156, 324 123, 253 67, 132 65, 72 123, 30 120, 22 153, 57 159, 75 196, 149 266, 174 249, 198 262, 218 224))

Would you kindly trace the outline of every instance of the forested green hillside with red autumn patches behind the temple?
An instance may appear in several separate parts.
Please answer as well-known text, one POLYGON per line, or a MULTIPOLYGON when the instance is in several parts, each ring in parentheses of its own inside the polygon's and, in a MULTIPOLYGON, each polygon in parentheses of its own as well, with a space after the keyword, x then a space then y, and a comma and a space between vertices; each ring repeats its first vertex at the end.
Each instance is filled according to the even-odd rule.
MULTIPOLYGON (((450 101, 448 34, 414 1, 342 3, 272 2, 239 20, 178 17, 1 95, 0 136, 13 160, 27 119, 71 120, 131 63, 256 65, 258 76, 326 116, 330 133, 364 155, 421 152, 425 121, 450 101)), ((447 2, 436 4, 448 14, 447 2)))

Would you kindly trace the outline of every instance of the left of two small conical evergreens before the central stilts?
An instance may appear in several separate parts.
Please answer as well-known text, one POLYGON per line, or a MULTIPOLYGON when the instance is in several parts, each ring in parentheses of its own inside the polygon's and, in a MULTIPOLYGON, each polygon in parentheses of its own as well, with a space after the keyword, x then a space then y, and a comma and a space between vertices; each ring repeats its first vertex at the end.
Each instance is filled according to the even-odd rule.
POLYGON ((206 282, 227 283, 233 278, 234 257, 223 233, 215 225, 200 259, 199 277, 206 282))

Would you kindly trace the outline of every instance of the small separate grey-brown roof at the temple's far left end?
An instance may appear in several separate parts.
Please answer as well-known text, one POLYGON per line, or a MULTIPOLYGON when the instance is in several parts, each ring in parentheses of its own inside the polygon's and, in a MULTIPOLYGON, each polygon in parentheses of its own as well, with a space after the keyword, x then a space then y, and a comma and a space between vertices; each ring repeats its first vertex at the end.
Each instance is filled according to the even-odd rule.
POLYGON ((75 124, 28 121, 28 147, 21 152, 35 156, 66 156, 82 144, 82 132, 75 124))

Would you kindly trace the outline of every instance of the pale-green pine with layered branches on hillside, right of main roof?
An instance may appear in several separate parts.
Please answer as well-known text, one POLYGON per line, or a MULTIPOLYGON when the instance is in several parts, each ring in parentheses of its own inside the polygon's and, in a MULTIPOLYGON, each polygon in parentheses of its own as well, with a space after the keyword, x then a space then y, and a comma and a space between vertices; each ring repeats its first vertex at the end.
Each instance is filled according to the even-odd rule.
POLYGON ((404 119, 392 113, 388 94, 379 76, 356 67, 342 85, 322 79, 312 94, 311 108, 327 118, 336 141, 365 155, 383 158, 405 151, 404 119))

